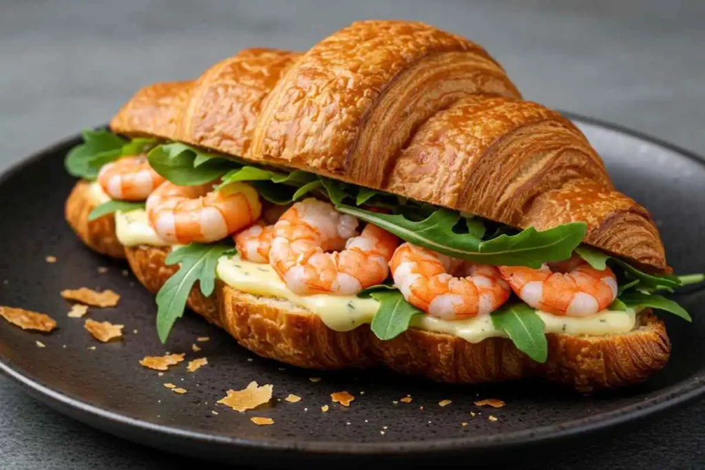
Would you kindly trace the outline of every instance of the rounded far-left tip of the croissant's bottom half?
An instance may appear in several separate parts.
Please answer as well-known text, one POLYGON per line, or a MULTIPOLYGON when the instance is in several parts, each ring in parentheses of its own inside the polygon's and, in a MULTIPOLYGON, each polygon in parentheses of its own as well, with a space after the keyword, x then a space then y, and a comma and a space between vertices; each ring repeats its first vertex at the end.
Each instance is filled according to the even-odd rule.
POLYGON ((115 218, 106 215, 88 221, 88 214, 95 206, 90 197, 90 183, 83 180, 76 183, 64 205, 64 216, 68 225, 71 225, 82 242, 94 251, 113 258, 124 258, 123 245, 115 235, 115 218))

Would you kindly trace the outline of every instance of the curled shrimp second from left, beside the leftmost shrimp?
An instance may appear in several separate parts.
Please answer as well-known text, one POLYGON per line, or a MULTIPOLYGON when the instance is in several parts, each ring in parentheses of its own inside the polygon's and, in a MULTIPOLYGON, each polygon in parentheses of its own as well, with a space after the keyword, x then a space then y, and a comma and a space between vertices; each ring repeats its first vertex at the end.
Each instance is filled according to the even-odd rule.
POLYGON ((209 243, 259 218, 262 204, 255 188, 239 182, 218 191, 213 187, 213 183, 177 186, 166 181, 149 194, 147 215, 157 235, 171 243, 209 243))

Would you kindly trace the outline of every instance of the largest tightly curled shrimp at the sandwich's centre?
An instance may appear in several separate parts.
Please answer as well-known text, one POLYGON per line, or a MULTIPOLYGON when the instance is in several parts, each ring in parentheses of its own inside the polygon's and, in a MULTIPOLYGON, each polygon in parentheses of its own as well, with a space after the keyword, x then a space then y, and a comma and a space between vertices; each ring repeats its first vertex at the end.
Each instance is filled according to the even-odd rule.
POLYGON ((269 264, 298 295, 357 294, 387 278, 398 243, 371 223, 357 235, 357 225, 329 202, 297 202, 274 224, 269 264))

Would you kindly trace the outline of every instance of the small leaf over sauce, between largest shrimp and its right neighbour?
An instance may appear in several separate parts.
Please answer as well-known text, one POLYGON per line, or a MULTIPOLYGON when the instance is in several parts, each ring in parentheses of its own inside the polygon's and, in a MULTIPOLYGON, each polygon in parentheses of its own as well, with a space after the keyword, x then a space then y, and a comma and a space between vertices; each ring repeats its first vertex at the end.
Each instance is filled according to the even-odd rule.
POLYGON ((424 312, 407 302, 396 288, 367 289, 367 295, 379 302, 379 309, 372 319, 370 328, 380 340, 391 340, 404 333, 415 315, 424 312))

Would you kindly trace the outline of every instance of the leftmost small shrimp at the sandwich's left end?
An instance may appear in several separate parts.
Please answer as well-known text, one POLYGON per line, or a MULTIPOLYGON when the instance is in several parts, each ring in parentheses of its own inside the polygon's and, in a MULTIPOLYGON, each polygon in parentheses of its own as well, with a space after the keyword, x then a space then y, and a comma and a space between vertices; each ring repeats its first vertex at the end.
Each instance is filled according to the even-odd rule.
POLYGON ((144 201, 164 177, 149 165, 147 156, 130 155, 102 166, 98 183, 112 199, 144 201))

